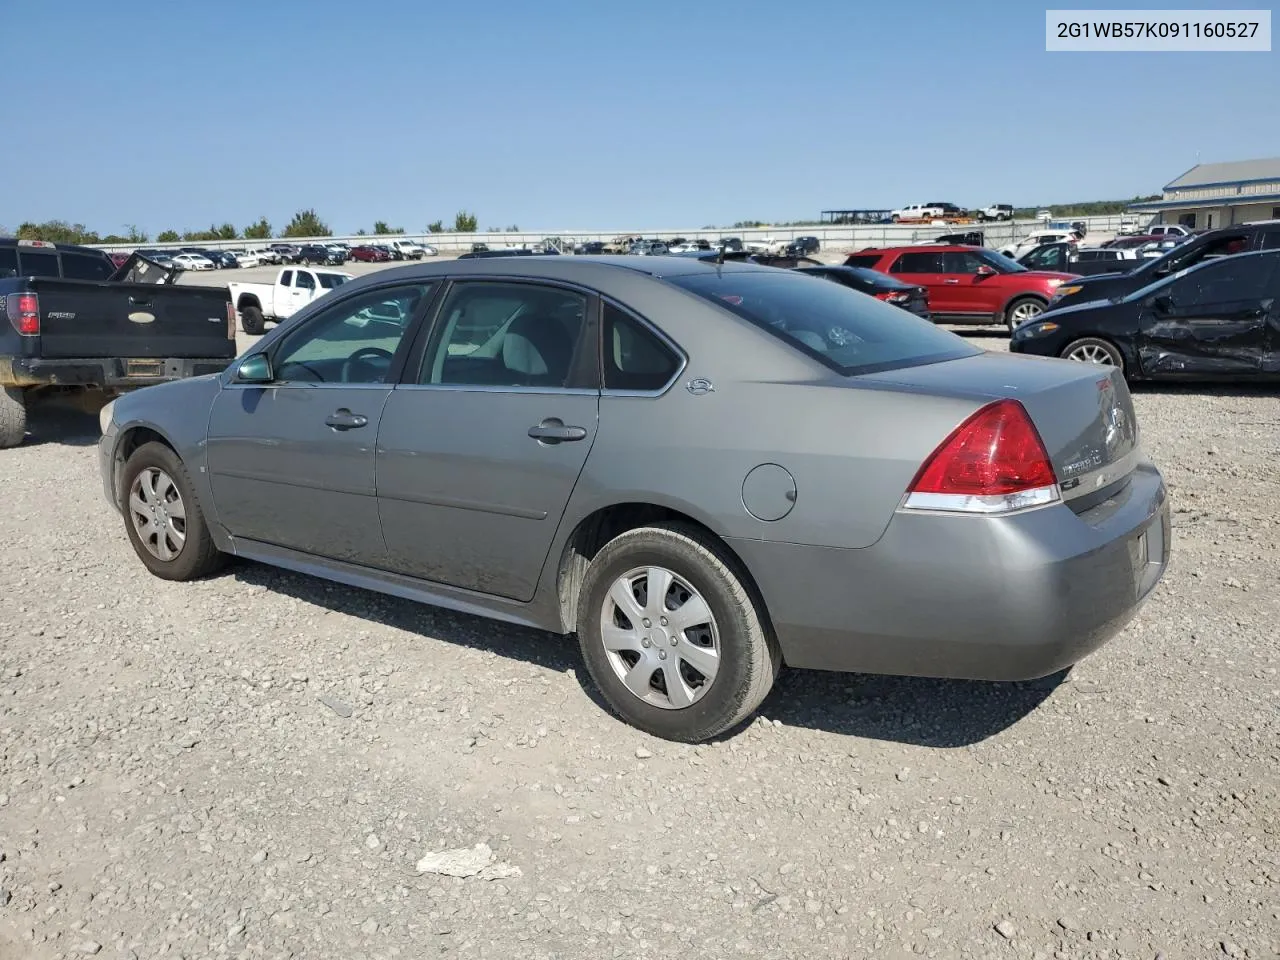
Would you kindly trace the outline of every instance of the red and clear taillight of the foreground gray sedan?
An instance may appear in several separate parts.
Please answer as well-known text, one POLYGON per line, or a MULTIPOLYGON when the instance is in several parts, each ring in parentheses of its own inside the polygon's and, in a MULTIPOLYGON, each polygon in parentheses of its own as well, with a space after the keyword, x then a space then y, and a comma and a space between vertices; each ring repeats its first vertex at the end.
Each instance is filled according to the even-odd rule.
POLYGON ((1027 408, 989 403, 957 426, 911 481, 905 507, 1001 513, 1060 499, 1057 476, 1027 408))

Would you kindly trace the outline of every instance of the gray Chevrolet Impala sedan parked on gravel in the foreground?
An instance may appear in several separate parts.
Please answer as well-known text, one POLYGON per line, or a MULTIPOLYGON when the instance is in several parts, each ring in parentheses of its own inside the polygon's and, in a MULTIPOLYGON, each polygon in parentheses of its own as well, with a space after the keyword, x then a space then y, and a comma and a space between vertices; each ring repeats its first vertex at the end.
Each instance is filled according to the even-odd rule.
POLYGON ((234 554, 576 632, 612 708, 684 741, 783 663, 1055 673, 1170 549, 1119 371, 748 264, 370 274, 223 374, 116 399, 99 449, 156 576, 234 554))

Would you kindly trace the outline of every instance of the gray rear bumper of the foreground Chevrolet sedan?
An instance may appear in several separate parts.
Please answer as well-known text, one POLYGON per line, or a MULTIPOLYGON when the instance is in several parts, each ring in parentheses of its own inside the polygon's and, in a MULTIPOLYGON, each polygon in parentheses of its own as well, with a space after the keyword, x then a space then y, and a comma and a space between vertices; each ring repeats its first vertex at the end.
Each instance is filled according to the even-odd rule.
POLYGON ((1164 576, 1169 500, 1151 463, 1076 515, 895 515, 863 549, 730 540, 792 667, 1033 680, 1115 636, 1164 576))

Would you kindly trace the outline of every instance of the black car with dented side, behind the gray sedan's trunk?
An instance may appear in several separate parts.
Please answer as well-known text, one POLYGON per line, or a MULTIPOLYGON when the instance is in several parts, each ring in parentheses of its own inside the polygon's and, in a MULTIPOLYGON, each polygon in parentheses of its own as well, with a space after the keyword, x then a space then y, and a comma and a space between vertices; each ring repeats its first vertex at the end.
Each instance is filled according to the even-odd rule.
POLYGON ((1280 380, 1280 250, 1052 310, 1019 326, 1009 348, 1117 366, 1129 380, 1280 380))

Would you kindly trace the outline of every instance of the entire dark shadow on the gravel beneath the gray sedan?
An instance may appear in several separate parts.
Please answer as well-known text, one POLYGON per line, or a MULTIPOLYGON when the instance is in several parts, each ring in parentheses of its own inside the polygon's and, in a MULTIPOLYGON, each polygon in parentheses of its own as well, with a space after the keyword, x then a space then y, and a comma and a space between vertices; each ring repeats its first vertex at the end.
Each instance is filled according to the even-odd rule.
MULTIPOLYGON (((586 676, 573 637, 454 613, 248 561, 234 563, 230 573, 243 584, 262 586, 335 613, 488 650, 558 673, 572 669, 586 696, 602 710, 609 712, 586 676)), ((977 744, 1011 727, 1039 707, 1065 677, 1064 671, 1025 684, 982 684, 783 671, 760 713, 790 727, 918 746, 957 748, 977 744)), ((723 739, 731 740, 744 728, 745 724, 723 739)))

